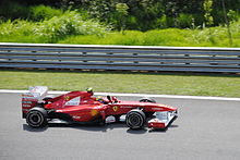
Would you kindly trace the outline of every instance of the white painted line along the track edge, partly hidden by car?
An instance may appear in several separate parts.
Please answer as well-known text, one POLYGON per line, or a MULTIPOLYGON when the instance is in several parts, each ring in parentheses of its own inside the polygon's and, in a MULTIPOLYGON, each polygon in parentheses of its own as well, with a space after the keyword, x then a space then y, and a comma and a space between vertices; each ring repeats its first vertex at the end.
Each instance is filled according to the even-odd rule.
MULTIPOLYGON (((2 94, 23 94, 28 90, 8 90, 0 89, 2 94)), ((68 91, 48 91, 48 94, 67 94, 68 91)), ((95 93, 95 95, 103 96, 120 96, 120 97, 156 97, 156 98, 175 98, 175 99, 199 99, 199 100, 229 100, 240 101, 240 98, 226 98, 226 97, 204 97, 204 96, 177 96, 177 95, 147 95, 147 94, 118 94, 118 93, 95 93)))

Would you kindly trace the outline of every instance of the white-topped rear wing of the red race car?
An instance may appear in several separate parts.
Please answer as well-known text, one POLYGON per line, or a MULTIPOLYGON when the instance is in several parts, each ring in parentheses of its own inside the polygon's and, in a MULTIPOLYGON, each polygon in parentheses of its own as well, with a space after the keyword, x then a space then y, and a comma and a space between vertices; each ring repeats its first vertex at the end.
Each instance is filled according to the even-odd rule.
POLYGON ((28 91, 22 95, 22 113, 23 118, 26 116, 26 113, 29 109, 37 106, 39 101, 46 97, 48 93, 48 87, 46 86, 35 86, 29 87, 28 91))

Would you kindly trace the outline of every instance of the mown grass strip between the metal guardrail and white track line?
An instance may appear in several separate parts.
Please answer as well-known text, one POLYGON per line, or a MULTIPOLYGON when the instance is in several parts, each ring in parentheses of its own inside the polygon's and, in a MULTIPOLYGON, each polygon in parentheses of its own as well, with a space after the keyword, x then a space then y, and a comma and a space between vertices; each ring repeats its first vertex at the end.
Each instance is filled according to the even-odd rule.
POLYGON ((50 90, 84 90, 160 95, 240 97, 240 76, 219 74, 141 74, 51 71, 0 71, 1 89, 44 85, 50 90))

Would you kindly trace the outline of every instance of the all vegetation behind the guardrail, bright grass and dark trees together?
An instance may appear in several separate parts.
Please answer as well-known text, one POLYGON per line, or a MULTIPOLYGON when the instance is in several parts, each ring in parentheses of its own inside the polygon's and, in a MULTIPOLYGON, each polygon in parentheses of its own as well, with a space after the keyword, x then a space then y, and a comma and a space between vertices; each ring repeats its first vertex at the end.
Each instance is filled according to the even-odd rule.
POLYGON ((239 0, 2 0, 0 41, 239 47, 239 0))

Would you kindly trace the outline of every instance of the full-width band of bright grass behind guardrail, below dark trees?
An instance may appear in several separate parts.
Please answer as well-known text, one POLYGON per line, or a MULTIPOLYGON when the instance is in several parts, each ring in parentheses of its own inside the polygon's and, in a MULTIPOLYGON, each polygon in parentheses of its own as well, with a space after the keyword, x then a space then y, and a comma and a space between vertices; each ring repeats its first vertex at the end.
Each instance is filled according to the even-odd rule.
POLYGON ((0 24, 0 41, 77 45, 240 47, 240 20, 231 23, 232 45, 225 26, 204 29, 155 29, 112 32, 97 21, 84 20, 77 12, 64 12, 41 22, 23 20, 0 24))

